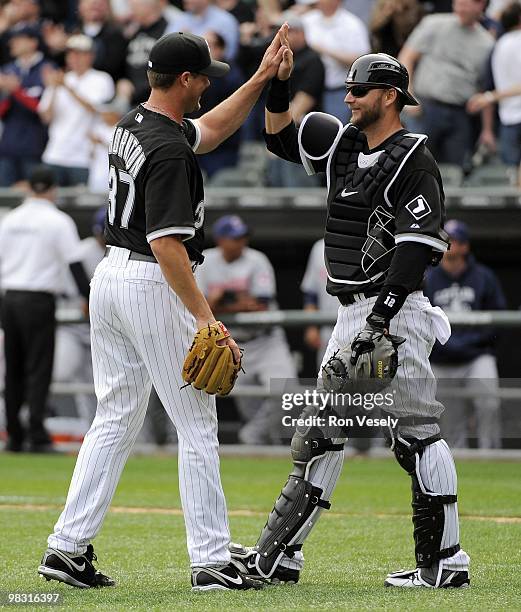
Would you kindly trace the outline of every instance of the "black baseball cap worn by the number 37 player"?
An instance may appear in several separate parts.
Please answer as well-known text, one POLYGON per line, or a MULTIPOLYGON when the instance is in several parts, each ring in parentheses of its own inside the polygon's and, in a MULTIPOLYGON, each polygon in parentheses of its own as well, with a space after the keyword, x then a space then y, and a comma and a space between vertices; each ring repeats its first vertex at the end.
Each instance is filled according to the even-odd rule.
POLYGON ((148 69, 160 74, 197 72, 206 76, 224 76, 230 66, 213 60, 204 38, 185 32, 165 34, 150 51, 148 69))

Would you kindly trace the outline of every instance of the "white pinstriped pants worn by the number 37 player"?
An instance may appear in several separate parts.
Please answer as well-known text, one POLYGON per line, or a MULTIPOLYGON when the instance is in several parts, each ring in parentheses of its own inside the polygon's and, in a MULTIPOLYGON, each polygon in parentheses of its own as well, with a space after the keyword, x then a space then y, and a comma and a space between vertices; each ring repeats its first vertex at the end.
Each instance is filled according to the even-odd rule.
POLYGON ((82 444, 49 546, 82 554, 99 532, 141 429, 151 385, 179 438, 179 489, 192 566, 228 563, 215 398, 184 384, 195 321, 155 263, 110 249, 91 283, 96 417, 82 444))

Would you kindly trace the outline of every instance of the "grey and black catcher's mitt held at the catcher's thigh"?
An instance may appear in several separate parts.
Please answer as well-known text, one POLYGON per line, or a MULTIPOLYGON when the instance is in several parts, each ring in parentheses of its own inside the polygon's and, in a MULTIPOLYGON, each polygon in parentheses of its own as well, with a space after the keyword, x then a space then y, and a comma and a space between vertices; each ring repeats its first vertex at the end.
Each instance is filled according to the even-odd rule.
POLYGON ((405 338, 364 328, 351 346, 337 351, 322 367, 326 391, 352 393, 379 391, 398 370, 398 347, 405 338), (364 385, 361 381, 370 381, 364 385))

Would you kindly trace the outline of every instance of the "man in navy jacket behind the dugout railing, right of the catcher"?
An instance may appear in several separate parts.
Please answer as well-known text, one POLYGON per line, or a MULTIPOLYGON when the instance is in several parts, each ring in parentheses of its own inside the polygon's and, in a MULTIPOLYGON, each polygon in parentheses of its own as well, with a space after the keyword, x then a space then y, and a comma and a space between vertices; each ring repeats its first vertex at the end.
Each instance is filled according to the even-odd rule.
MULTIPOLYGON (((504 310, 501 285, 489 268, 478 263, 470 252, 469 231, 461 221, 445 224, 451 238, 448 250, 436 268, 429 268, 425 295, 445 312, 504 310)), ((456 328, 445 345, 436 343, 431 354, 434 374, 441 389, 469 386, 476 392, 471 402, 476 415, 479 448, 499 448, 500 404, 495 393, 498 373, 494 356, 494 330, 456 328)), ((469 419, 465 401, 447 399, 442 420, 444 437, 455 447, 468 447, 469 419)))

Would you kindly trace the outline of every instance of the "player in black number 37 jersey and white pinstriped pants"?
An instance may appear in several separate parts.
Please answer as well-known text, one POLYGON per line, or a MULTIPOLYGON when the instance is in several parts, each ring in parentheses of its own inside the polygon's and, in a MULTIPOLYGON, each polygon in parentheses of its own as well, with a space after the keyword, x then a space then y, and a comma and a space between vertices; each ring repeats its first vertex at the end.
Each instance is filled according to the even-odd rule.
MULTIPOLYGON (((283 25, 242 87, 194 121, 184 114, 199 108, 208 77, 223 76, 229 66, 212 60, 199 36, 163 36, 150 52, 149 99, 123 117, 114 131, 105 224, 108 247, 90 294, 98 406, 65 508, 38 568, 49 580, 79 588, 114 585, 96 571, 91 542, 143 424, 153 384, 179 438, 179 491, 192 588, 258 586, 242 577, 230 560, 215 397, 184 385, 183 367, 194 334, 218 325, 193 274, 203 260, 204 240, 204 189, 195 152, 216 148, 244 122, 289 53, 281 45, 286 30, 283 25)), ((222 340, 221 346, 227 347, 223 350, 231 351, 237 364, 236 343, 229 335, 222 340)))

